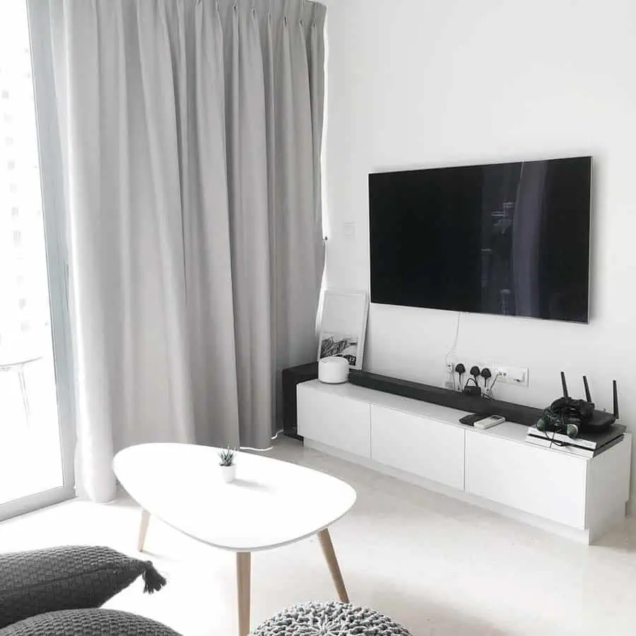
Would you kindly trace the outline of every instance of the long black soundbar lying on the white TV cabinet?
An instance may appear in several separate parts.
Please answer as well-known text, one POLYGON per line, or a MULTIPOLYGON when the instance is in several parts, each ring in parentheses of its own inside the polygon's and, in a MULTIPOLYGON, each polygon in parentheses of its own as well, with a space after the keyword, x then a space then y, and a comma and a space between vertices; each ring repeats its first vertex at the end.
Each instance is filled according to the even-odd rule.
POLYGON ((510 422, 517 422, 526 426, 534 426, 536 420, 541 417, 541 408, 512 404, 512 402, 502 402, 500 400, 489 400, 483 397, 473 397, 461 394, 459 391, 430 387, 428 384, 419 384, 418 382, 377 375, 367 371, 351 370, 349 372, 349 382, 358 384, 359 387, 375 389, 375 391, 383 391, 384 393, 401 395, 413 400, 457 408, 459 411, 481 413, 484 416, 500 415, 510 422))

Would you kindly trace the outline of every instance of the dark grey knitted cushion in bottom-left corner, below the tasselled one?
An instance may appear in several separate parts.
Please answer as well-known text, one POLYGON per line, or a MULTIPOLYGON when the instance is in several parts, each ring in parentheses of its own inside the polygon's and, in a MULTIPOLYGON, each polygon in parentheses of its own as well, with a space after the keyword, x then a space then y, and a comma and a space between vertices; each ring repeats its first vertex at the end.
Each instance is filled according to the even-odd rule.
POLYGON ((32 616, 0 636, 179 636, 154 620, 116 610, 83 609, 32 616))

